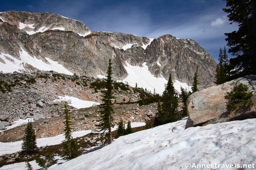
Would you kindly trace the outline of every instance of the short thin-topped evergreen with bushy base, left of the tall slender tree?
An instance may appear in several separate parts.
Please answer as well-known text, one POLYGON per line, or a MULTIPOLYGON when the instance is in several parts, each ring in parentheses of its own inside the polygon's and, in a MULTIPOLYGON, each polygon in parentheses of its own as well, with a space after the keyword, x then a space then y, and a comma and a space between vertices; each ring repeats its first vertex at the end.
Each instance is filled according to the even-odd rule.
POLYGON ((69 109, 67 104, 64 104, 64 113, 65 113, 65 140, 62 141, 62 151, 61 156, 64 159, 73 159, 80 155, 78 143, 73 139, 71 135, 71 120, 69 115, 69 109))

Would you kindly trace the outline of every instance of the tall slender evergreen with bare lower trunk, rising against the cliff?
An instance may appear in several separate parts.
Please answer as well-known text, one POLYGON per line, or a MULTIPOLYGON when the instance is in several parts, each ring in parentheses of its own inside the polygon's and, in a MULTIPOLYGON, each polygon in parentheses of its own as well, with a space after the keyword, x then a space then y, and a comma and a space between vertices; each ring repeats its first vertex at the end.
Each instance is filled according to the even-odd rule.
POLYGON ((113 103, 112 100, 115 99, 113 95, 113 80, 112 80, 112 66, 111 66, 111 59, 109 60, 109 66, 108 71, 106 71, 107 77, 106 77, 106 90, 102 92, 102 104, 99 106, 101 110, 100 113, 100 119, 98 120, 100 124, 98 127, 101 131, 108 131, 109 140, 110 143, 112 143, 112 134, 111 134, 111 128, 114 127, 114 109, 113 109, 113 103))

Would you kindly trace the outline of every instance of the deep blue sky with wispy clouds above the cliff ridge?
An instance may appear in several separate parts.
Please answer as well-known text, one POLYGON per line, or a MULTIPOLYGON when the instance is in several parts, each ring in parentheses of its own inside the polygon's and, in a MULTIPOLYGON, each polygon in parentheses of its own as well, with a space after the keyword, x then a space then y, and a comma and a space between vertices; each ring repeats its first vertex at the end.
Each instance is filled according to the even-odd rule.
POLYGON ((81 20, 91 31, 191 38, 217 62, 220 47, 226 45, 224 33, 237 30, 229 25, 222 0, 0 0, 0 4, 1 12, 53 12, 81 20))

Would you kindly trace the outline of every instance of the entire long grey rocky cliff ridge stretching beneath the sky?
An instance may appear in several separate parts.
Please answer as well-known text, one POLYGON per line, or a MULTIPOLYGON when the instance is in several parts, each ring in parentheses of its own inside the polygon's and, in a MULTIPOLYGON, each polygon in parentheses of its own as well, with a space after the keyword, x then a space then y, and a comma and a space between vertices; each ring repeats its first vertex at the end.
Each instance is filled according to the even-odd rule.
MULTIPOLYGON (((76 75, 106 75, 107 62, 114 60, 114 79, 127 76, 127 63, 141 66, 146 62, 152 75, 189 85, 198 72, 199 85, 214 81, 216 62, 195 41, 171 35, 150 39, 131 34, 90 32, 83 22, 52 13, 9 11, 0 13, 0 64, 22 61, 21 70, 38 66, 23 59, 20 52, 47 64, 57 61, 76 75), (9 56, 10 55, 10 56, 9 56)), ((5 71, 5 70, 2 70, 5 71)), ((17 69, 18 71, 18 69, 17 69)))

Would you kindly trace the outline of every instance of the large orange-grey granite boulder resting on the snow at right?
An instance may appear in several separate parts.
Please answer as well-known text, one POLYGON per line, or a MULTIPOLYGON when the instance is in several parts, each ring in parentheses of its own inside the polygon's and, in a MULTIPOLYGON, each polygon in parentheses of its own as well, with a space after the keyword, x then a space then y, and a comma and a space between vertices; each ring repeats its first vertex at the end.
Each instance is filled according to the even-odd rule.
POLYGON ((187 113, 189 118, 186 128, 255 117, 255 89, 256 76, 250 75, 191 94, 187 100, 187 113), (229 112, 226 109, 227 100, 225 99, 225 95, 227 92, 230 92, 234 86, 240 83, 248 85, 249 91, 253 91, 254 95, 251 99, 254 106, 246 109, 238 108, 229 112))

